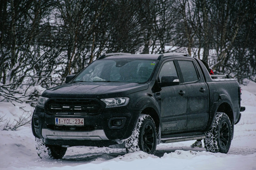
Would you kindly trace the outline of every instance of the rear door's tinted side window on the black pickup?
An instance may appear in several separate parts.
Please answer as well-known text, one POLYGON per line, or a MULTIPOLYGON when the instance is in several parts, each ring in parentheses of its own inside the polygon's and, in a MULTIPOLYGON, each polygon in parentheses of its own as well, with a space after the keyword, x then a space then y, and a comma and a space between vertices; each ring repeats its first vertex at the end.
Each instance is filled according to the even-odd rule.
POLYGON ((198 80, 196 68, 192 61, 178 60, 184 83, 198 80))

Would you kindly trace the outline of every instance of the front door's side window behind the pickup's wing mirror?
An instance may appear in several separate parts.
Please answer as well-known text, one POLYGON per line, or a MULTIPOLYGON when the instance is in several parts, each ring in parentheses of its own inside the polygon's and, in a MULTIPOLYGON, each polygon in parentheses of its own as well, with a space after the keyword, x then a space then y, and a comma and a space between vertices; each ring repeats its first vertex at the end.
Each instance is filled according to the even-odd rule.
POLYGON ((158 75, 158 78, 159 78, 160 82, 161 82, 161 78, 163 76, 177 76, 178 77, 177 71, 176 71, 176 68, 175 68, 175 65, 174 65, 173 61, 166 62, 162 66, 162 68, 160 70, 160 73, 158 75))

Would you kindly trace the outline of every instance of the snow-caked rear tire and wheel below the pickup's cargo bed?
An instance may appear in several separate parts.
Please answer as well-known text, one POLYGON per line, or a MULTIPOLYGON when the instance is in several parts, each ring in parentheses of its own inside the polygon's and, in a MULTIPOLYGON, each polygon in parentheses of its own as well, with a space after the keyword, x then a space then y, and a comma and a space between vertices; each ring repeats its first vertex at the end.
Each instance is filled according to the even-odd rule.
POLYGON ((211 129, 205 133, 206 151, 228 153, 232 140, 232 127, 226 113, 217 112, 211 129))

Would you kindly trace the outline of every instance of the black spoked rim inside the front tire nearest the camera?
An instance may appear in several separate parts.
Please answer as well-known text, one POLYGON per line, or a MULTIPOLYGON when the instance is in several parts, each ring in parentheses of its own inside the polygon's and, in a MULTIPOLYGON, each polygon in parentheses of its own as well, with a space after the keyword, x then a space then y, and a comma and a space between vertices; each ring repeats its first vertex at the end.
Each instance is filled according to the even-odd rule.
POLYGON ((154 132, 152 126, 147 124, 144 126, 142 131, 142 150, 144 152, 150 153, 154 146, 154 132))

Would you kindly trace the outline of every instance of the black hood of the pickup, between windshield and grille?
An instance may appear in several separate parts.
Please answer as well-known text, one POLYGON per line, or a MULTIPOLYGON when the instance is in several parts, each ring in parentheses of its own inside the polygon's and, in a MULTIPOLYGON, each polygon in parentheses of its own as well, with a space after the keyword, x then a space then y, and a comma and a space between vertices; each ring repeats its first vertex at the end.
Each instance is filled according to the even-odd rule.
POLYGON ((45 90, 42 97, 126 97, 127 94, 148 89, 148 84, 127 82, 76 82, 45 90))

